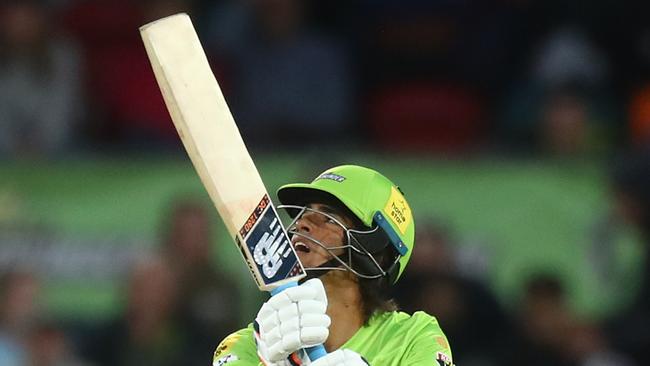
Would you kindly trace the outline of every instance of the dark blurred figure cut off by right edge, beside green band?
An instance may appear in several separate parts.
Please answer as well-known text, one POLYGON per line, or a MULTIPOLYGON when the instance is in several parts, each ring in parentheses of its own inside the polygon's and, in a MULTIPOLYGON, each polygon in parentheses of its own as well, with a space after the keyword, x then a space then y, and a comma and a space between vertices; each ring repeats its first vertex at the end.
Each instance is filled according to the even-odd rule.
POLYGON ((639 364, 650 364, 650 150, 636 150, 617 161, 612 175, 615 215, 635 227, 643 241, 644 267, 639 291, 622 314, 611 320, 609 335, 639 364))

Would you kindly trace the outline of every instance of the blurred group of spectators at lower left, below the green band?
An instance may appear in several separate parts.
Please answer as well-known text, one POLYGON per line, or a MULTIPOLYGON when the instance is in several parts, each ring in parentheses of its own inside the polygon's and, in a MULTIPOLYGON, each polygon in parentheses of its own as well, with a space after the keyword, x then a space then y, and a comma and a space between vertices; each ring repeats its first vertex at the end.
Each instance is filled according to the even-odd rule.
POLYGON ((0 365, 209 365, 216 344, 240 324, 241 296, 212 262, 208 207, 179 198, 161 243, 135 258, 121 281, 115 319, 57 319, 43 308, 42 284, 16 268, 0 283, 0 365))

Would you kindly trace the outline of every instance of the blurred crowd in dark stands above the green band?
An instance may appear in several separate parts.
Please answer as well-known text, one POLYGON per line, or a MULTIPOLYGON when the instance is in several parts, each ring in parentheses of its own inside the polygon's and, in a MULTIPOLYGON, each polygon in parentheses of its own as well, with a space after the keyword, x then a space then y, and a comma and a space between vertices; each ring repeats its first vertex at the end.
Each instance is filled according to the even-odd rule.
POLYGON ((0 156, 178 151, 137 29, 181 11, 253 149, 606 154, 650 135, 648 8, 7 0, 0 156))

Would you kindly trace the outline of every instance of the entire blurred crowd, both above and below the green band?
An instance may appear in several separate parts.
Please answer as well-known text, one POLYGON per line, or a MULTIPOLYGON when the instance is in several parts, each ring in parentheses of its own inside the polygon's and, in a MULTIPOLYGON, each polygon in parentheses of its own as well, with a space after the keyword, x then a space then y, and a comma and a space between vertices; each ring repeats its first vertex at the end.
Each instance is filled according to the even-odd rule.
MULTIPOLYGON (((611 156, 608 225, 650 250, 650 3, 593 0, 5 0, 0 160, 181 152, 138 26, 186 11, 252 149, 611 156)), ((636 299, 581 319, 555 273, 514 308, 459 260, 453 228, 418 221, 395 296, 435 315, 458 365, 650 364, 650 266, 636 299)), ((0 365, 206 365, 243 324, 210 262, 205 208, 180 200, 123 310, 77 327, 44 317, 40 279, 0 281, 0 365)), ((623 284, 622 284, 623 285, 623 284)))

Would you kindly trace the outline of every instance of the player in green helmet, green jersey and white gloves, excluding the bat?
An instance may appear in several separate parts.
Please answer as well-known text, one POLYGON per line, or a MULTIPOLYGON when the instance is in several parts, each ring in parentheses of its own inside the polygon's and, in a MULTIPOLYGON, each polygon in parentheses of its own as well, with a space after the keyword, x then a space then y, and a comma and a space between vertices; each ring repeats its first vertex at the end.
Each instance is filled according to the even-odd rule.
POLYGON ((400 189, 361 166, 331 168, 278 190, 288 233, 308 273, 272 296, 253 324, 216 349, 214 366, 451 366, 437 320, 388 298, 413 252, 415 224, 400 189), (322 344, 324 357, 305 348, 322 344))

